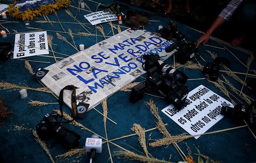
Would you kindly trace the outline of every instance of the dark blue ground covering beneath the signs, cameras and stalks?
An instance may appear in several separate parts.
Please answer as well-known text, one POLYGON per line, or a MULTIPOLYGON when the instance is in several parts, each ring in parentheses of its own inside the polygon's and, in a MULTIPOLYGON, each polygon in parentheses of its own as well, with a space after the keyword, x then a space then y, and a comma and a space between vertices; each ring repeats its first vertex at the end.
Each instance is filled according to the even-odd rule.
MULTIPOLYGON (((9 1, 6 1, 6 3, 9 1)), ((91 8, 92 11, 96 10, 97 3, 91 2, 91 1, 85 1, 88 6, 91 8)), ((116 1, 110 0, 110 1, 98 1, 105 5, 109 5, 112 3, 115 3, 116 1)), ((71 3, 74 6, 77 6, 76 3, 71 3)), ((132 9, 141 10, 136 7, 129 6, 132 9)), ((69 7, 68 8, 73 15, 76 13, 76 8, 69 7)), ((99 11, 99 9, 98 9, 99 11)), ((142 10, 141 10, 142 11, 142 10)), ((62 22, 74 22, 74 20, 68 16, 65 13, 65 10, 58 11, 58 16, 60 21, 62 22)), ((80 11, 80 13, 77 13, 77 19, 79 19, 81 22, 87 23, 88 21, 84 19, 83 15, 88 14, 86 11, 80 11)), ((57 18, 54 14, 48 15, 49 19, 52 21, 57 21, 57 18)), ((13 18, 8 17, 8 21, 14 21, 13 18)), ((47 29, 47 30, 55 30, 55 31, 62 31, 60 25, 58 23, 53 23, 54 26, 51 26, 49 23, 35 23, 34 21, 37 20, 44 20, 43 17, 39 17, 38 19, 34 19, 31 22, 31 27, 34 28, 41 28, 41 29, 47 29)), ((155 32, 158 28, 159 24, 166 25, 170 19, 165 17, 159 17, 152 14, 152 16, 149 18, 149 20, 160 20, 160 22, 150 22, 150 24, 145 25, 145 29, 150 32, 155 32)), ((113 22, 114 24, 117 24, 117 22, 113 22)), ((19 23, 6 23, 3 24, 6 28, 10 30, 10 32, 13 32, 12 30, 17 30, 17 32, 25 32, 25 31, 33 31, 25 28, 25 25, 22 21, 19 23)), ((78 32, 78 28, 81 30, 81 32, 86 32, 79 24, 65 24, 62 23, 63 27, 67 31, 68 28, 70 28, 73 33, 78 32)), ((124 26, 127 26, 126 24, 123 24, 124 26)), ((109 33, 111 31, 110 25, 107 23, 102 24, 104 28, 105 34, 109 33)), ((189 27, 178 24, 179 30, 182 31, 191 41, 195 41, 200 37, 200 33, 196 32, 193 29, 190 29, 189 27)), ((91 26, 93 30, 91 30, 91 33, 95 33, 94 26, 91 26)), ((125 30, 125 28, 121 28, 122 30, 125 30)), ((116 30, 114 30, 115 33, 117 33, 116 30)), ((98 31, 99 33, 99 31, 98 31)), ((53 35, 53 43, 57 44, 57 46, 53 46, 53 50, 56 52, 60 52, 63 54, 72 55, 76 53, 76 51, 68 46, 65 42, 61 42, 56 37, 55 32, 47 32, 48 35, 53 35)), ((112 33, 110 34, 112 35, 112 33)), ((71 41, 70 37, 66 34, 63 34, 63 36, 67 37, 69 41, 71 41)), ((1 41, 10 41, 14 45, 14 38, 15 34, 8 34, 8 37, 6 39, 2 39, 1 41)), ((76 45, 78 46, 80 44, 80 37, 74 36, 74 40, 76 42, 76 45)), ((98 37, 98 42, 102 41, 103 37, 98 37)), ((96 43, 95 36, 82 36, 82 42, 85 44, 85 48, 90 47, 96 43)), ((212 46, 222 47, 219 43, 217 43, 214 40, 209 40, 208 44, 212 46)), ((233 48, 228 47, 230 51, 232 51, 244 64, 247 62, 248 55, 235 50, 233 48)), ((205 50, 210 50, 212 52, 217 53, 218 56, 225 56, 229 58, 232 62, 232 71, 239 71, 239 72, 246 72, 246 68, 241 65, 241 63, 235 59, 227 50, 221 50, 206 46, 200 47, 200 54, 202 57, 207 60, 207 62, 212 61, 210 55, 205 52, 205 50)), ((52 55, 50 53, 49 55, 52 55)), ((62 55, 55 54, 58 57, 63 57, 62 55)), ((64 56, 65 57, 65 56, 64 56)), ((40 61, 48 61, 53 64, 54 58, 46 58, 46 57, 28 57, 24 59, 30 59, 30 60, 40 60, 40 61)), ((173 57, 167 60, 170 64, 173 64, 173 57)), ((205 64, 202 60, 199 61, 202 65, 205 64)), ((37 62, 30 62, 33 70, 37 70, 39 68, 47 67, 51 64, 47 63, 37 63, 37 62)), ((255 69, 255 64, 252 65, 251 69, 255 69)), ((24 66, 24 61, 22 60, 16 60, 16 59, 9 59, 8 61, 0 61, 0 80, 4 82, 9 82, 13 84, 25 84, 29 87, 33 88, 39 88, 42 87, 36 80, 31 78, 30 73, 24 66)), ((189 69, 180 69, 181 71, 185 72, 190 79, 193 78, 203 78, 205 77, 200 70, 189 70, 189 69)), ((230 82, 237 88, 241 89, 242 85, 239 84, 236 80, 230 78, 225 73, 224 75, 230 80, 230 82)), ((245 76, 238 75, 242 80, 244 80, 245 76)), ((250 79, 250 78, 249 78, 250 79)), ((136 80, 143 81, 143 78, 139 78, 136 80)), ((214 87, 211 83, 209 83, 207 80, 189 80, 187 82, 187 86, 190 90, 196 88, 200 84, 208 87, 209 89, 213 90, 217 94, 221 95, 222 97, 227 97, 222 94, 217 88, 214 87)), ((227 86, 227 85, 226 85, 227 86)), ((227 86, 228 88, 228 86, 227 86)), ((228 90, 232 92, 229 88, 228 90)), ((249 95, 252 98, 255 98, 255 96, 250 92, 250 90, 246 87, 244 87, 244 93, 249 95)), ((113 119, 117 125, 113 124, 110 121, 107 121, 106 123, 106 129, 108 131, 108 138, 114 139, 117 137, 121 137, 123 135, 128 135, 133 133, 131 131, 131 127, 134 123, 140 124, 145 129, 150 129, 155 127, 156 125, 156 119, 151 114, 149 108, 146 106, 145 102, 149 101, 150 99, 153 99, 156 103, 157 107, 160 109, 165 108, 168 106, 168 103, 164 101, 161 98, 145 95, 143 100, 136 103, 131 104, 129 102, 129 93, 130 92, 123 92, 118 91, 117 93, 110 96, 107 100, 108 102, 108 117, 113 119)), ((234 94, 234 93, 233 93, 234 94)), ((12 91, 9 92, 7 90, 0 90, 0 96, 3 98, 4 102, 6 103, 6 107, 11 109, 13 113, 10 115, 10 119, 4 121, 4 126, 0 128, 0 152, 2 153, 3 162, 26 162, 26 163, 34 163, 34 162, 50 162, 48 156, 44 152, 44 150, 41 148, 41 146, 34 140, 34 136, 30 130, 14 130, 14 125, 21 126, 27 128, 33 128, 40 122, 42 117, 46 113, 51 113, 53 109, 58 109, 58 105, 46 105, 46 106, 30 106, 28 105, 28 102, 32 100, 38 100, 43 102, 57 102, 57 99, 52 96, 49 93, 43 93, 43 92, 36 92, 36 91, 28 91, 28 98, 21 99, 18 91, 12 91)), ((238 96, 237 96, 238 97, 238 96)), ((240 97, 238 97, 241 99, 240 97)), ((232 97, 232 99, 238 103, 238 101, 232 97)), ((244 101, 243 101, 244 102, 244 101)), ((98 105, 96 107, 98 110, 102 112, 101 105, 98 105)), ((67 107, 63 107, 64 111, 67 113, 70 113, 71 110, 67 107)), ((174 121, 169 119, 165 114, 163 114, 161 111, 159 111, 159 114, 163 120, 164 123, 168 123, 166 128, 172 135, 177 135, 185 132, 179 125, 177 125, 174 121)), ((77 122, 83 124, 87 128, 89 128, 92 131, 95 131, 96 133, 102 135, 105 137, 105 131, 104 131, 104 123, 103 123, 103 117, 97 113, 95 110, 90 110, 85 119, 77 120, 77 122)), ((243 123, 234 122, 230 119, 224 117, 221 121, 216 123, 212 128, 210 128, 208 131, 215 131, 230 127, 236 127, 244 125, 243 123)), ((68 129, 71 129, 78 134, 81 135, 80 145, 79 148, 82 148, 84 146, 86 137, 90 137, 92 134, 86 130, 81 130, 80 127, 76 127, 70 124, 65 124, 65 126, 68 129)), ((148 139, 148 136, 151 135, 151 139, 160 139, 162 138, 162 134, 158 130, 150 131, 146 133, 146 139, 148 139)), ((46 144, 48 148, 51 146, 53 140, 47 141, 46 144)), ((149 141, 151 142, 151 141, 149 141)), ((204 135, 201 136, 199 139, 191 138, 188 140, 185 140, 188 144, 188 146, 192 150, 193 153, 196 152, 196 147, 199 148, 201 153, 203 155, 211 157, 213 160, 220 160, 224 162, 232 162, 232 163, 241 163, 241 162, 255 162, 255 152, 256 152, 256 140, 253 137, 252 133, 248 130, 247 127, 231 130, 227 132, 221 132, 211 135, 204 135)), ((134 150, 133 148, 143 151, 142 148, 139 145, 139 142, 137 140, 137 136, 132 136, 125 139, 120 139, 114 141, 114 143, 128 149, 134 152, 138 152, 134 150), (131 147, 133 148, 131 148, 131 147)), ((187 155, 187 147, 186 145, 181 142, 179 143, 180 148, 183 150, 183 152, 187 155)), ((113 153, 116 150, 120 150, 116 146, 110 144, 110 150, 113 153)), ((56 160, 56 162, 87 162, 88 155, 82 156, 81 158, 76 158, 75 156, 66 159, 56 159, 56 155, 60 155, 62 153, 65 153, 67 150, 62 148, 60 145, 55 146, 54 148, 50 149, 50 152, 56 160)), ((170 155, 171 161, 181 161, 181 157, 179 153, 176 151, 174 146, 162 146, 162 147, 151 147, 148 146, 148 151, 158 159, 165 159, 168 160, 170 155)), ((194 156, 194 155, 193 155, 194 156)), ((196 157, 196 156, 195 156, 196 157)), ((107 145, 103 145, 103 151, 101 154, 97 154, 96 161, 97 162, 108 162, 109 160, 109 152, 107 145)), ((113 162, 131 162, 131 161, 125 161, 117 159, 116 157, 113 158, 113 162)), ((136 161, 133 161, 136 162, 136 161)))

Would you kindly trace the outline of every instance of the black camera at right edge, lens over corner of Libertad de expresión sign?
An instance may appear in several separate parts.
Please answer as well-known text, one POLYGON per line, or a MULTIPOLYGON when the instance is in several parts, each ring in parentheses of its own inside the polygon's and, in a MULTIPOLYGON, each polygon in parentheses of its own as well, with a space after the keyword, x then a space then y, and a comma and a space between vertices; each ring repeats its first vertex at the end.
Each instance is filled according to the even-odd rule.
POLYGON ((221 114, 230 117, 234 120, 242 121, 245 120, 249 125, 256 125, 256 102, 250 106, 243 104, 237 104, 235 107, 223 106, 221 114))

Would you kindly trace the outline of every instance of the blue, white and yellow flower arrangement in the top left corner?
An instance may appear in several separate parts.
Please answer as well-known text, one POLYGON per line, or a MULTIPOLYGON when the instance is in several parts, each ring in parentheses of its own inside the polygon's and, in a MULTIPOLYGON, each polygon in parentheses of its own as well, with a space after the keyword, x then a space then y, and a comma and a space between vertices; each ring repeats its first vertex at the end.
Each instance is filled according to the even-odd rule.
POLYGON ((11 17, 22 20, 33 20, 34 17, 52 14, 70 6, 70 0, 21 0, 9 5, 11 17))

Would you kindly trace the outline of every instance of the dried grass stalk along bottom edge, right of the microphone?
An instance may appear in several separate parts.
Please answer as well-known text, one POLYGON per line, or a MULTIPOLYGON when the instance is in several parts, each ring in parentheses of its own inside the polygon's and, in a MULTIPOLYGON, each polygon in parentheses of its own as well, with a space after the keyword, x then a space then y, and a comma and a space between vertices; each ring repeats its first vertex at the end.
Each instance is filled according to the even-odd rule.
POLYGON ((132 160, 132 161, 140 161, 145 163, 172 163, 164 160, 158 160, 156 158, 146 157, 142 155, 138 155, 131 151, 115 151, 114 155, 118 159, 132 160))

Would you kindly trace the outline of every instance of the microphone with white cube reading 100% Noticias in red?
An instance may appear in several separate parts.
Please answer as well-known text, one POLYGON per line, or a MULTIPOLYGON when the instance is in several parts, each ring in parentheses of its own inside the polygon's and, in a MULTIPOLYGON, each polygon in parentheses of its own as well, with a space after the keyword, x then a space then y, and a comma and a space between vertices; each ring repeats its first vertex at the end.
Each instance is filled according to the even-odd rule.
POLYGON ((95 154, 102 151, 102 139, 99 139, 98 135, 91 135, 91 138, 86 138, 85 149, 87 152, 90 152, 89 163, 93 163, 95 154))

